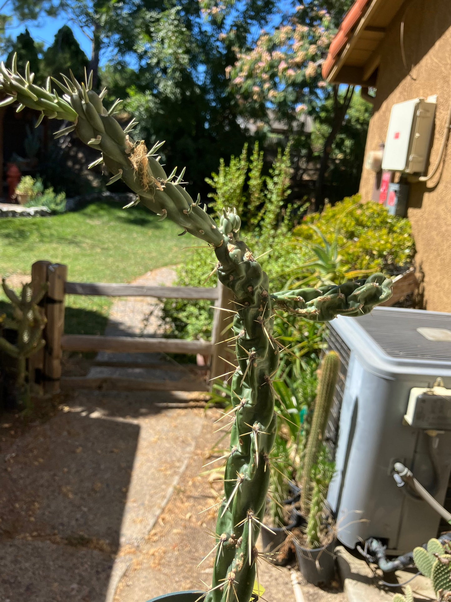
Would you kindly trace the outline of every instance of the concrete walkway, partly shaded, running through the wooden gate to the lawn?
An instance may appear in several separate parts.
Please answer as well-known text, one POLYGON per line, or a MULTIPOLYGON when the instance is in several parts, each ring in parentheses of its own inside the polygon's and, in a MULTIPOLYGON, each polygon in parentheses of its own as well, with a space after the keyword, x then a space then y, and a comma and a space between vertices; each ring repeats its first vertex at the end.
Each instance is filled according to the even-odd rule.
MULTIPOLYGON (((173 278, 164 268, 137 284, 173 278)), ((159 334, 159 308, 149 298, 117 300, 107 334, 159 334)), ((160 354, 102 355, 96 362, 110 365, 91 372, 130 370, 137 360, 138 370, 158 364, 158 379, 187 372, 160 354)), ((20 436, 0 424, 2 602, 113 600, 201 431, 203 411, 182 405, 173 393, 74 391, 54 417, 20 436)))

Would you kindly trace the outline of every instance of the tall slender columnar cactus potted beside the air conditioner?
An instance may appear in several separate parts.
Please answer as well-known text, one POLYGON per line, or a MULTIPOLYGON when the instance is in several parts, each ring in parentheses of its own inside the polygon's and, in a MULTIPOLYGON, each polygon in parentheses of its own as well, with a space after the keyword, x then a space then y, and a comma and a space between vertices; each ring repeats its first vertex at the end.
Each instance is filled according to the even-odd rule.
MULTIPOLYGON (((334 351, 327 353, 321 362, 320 376, 316 399, 314 400, 313 418, 311 420, 310 434, 308 435, 307 448, 305 449, 304 465, 301 479, 301 508, 305 515, 309 515, 309 500, 313 466, 318 461, 319 450, 324 439, 327 420, 332 406, 335 386, 340 368, 340 358, 334 351)), ((318 489, 318 483, 314 482, 318 489)), ((310 512, 313 512, 313 499, 310 512)))

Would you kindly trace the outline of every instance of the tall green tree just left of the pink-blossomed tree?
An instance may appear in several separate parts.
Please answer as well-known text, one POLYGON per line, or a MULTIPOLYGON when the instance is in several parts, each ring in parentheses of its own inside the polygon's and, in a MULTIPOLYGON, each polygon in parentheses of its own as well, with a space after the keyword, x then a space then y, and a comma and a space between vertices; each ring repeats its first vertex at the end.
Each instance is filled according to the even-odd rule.
MULTIPOLYGON (((225 78, 235 56, 216 43, 197 2, 138 2, 129 15, 135 37, 124 37, 102 81, 137 116, 138 138, 165 139, 163 161, 186 167, 186 178, 206 193, 204 178, 220 157, 236 154, 247 138, 239 106, 225 78), (132 55, 137 69, 127 66, 132 55)), ((112 99, 112 98, 111 98, 112 99)))

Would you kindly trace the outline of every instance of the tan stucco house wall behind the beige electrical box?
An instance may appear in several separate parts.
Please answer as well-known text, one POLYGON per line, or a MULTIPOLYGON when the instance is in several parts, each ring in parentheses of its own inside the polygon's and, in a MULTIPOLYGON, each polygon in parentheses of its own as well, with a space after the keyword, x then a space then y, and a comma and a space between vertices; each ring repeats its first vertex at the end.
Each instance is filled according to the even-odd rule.
MULTIPOLYGON (((451 1, 411 0, 391 22, 381 48, 377 93, 366 154, 385 141, 390 110, 396 102, 438 95, 429 172, 437 160, 451 102, 451 1), (405 69, 403 46, 410 74, 405 69)), ((360 193, 370 199, 375 175, 363 169, 360 193)), ((451 312, 451 137, 434 178, 410 185, 408 218, 423 273, 426 309, 451 312)))

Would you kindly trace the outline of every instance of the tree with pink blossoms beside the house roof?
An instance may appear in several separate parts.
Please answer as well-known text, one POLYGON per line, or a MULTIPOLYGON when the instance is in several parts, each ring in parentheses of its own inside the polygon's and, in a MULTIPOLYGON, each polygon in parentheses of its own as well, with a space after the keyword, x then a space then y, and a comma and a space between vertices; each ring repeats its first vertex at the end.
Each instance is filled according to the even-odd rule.
MULTIPOLYGON (((219 39, 235 50, 236 60, 227 67, 230 87, 238 95, 241 112, 248 118, 268 121, 269 111, 296 129, 302 113, 328 124, 328 133, 319 152, 319 171, 314 190, 315 209, 324 203, 325 180, 334 141, 345 122, 354 87, 344 93, 337 85, 322 80, 321 65, 337 26, 352 0, 310 0, 305 5, 290 2, 278 13, 278 23, 267 31, 260 29, 244 45, 230 15, 236 3, 202 0, 204 14, 221 28, 219 39), (219 16, 218 16, 219 15, 219 16), (324 107, 329 111, 324 119, 324 107), (323 116, 321 115, 323 114, 323 116)), ((318 151, 314 153, 318 155, 318 151)))

